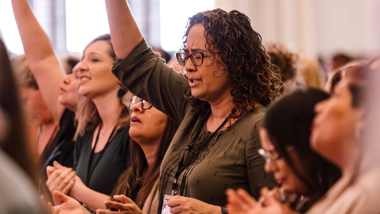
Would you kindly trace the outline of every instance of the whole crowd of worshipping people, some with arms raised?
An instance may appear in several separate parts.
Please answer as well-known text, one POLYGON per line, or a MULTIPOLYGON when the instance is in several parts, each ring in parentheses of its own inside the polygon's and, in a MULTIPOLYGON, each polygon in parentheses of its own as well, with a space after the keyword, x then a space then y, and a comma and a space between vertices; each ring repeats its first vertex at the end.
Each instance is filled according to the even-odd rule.
POLYGON ((213 9, 173 60, 105 0, 110 34, 60 58, 28 0, 11 3, 24 54, 0 41, 4 213, 380 213, 379 56, 324 75, 213 9))

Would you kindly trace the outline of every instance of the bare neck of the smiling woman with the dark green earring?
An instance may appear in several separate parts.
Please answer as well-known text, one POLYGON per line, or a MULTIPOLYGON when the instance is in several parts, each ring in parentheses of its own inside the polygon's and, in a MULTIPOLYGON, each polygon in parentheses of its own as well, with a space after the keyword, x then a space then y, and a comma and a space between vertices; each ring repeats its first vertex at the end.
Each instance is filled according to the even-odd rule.
POLYGON ((117 91, 112 91, 102 97, 93 99, 103 127, 114 126, 115 121, 120 118, 123 105, 120 104, 116 95, 117 91))

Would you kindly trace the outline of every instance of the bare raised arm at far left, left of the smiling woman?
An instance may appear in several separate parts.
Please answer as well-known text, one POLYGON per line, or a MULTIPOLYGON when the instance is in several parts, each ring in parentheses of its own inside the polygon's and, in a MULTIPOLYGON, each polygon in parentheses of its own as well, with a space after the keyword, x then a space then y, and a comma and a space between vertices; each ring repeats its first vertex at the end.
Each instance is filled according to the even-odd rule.
POLYGON ((30 70, 54 119, 59 121, 64 110, 58 102, 63 70, 28 1, 12 0, 12 8, 30 70))

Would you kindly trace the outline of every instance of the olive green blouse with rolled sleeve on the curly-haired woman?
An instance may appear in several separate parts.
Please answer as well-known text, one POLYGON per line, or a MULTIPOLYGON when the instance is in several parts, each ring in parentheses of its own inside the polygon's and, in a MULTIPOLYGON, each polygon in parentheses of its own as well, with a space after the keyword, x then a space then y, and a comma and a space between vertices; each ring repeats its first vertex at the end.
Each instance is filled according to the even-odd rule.
MULTIPOLYGON (((184 98, 184 91, 189 86, 187 78, 166 65, 144 40, 125 59, 116 60, 112 72, 133 94, 180 124, 161 164, 160 214, 164 195, 171 195, 179 159, 204 127, 203 121, 211 109, 206 109, 205 113, 194 111, 184 98)), ((180 171, 177 195, 224 206, 227 188, 243 188, 257 199, 261 187, 275 186, 273 175, 264 171, 264 160, 257 153, 260 148, 258 127, 265 110, 265 107, 257 107, 240 117, 228 130, 216 133, 209 142, 201 142, 206 146, 180 171)))

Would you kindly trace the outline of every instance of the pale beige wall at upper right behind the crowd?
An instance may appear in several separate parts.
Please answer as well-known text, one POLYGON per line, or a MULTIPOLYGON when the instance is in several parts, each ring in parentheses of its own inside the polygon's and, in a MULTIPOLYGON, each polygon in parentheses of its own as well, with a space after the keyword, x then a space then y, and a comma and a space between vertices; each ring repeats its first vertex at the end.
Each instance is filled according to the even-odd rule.
POLYGON ((306 54, 373 54, 380 50, 379 0, 216 0, 246 13, 264 43, 306 54))

